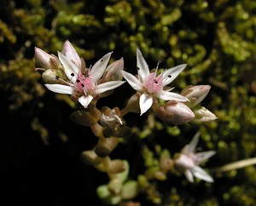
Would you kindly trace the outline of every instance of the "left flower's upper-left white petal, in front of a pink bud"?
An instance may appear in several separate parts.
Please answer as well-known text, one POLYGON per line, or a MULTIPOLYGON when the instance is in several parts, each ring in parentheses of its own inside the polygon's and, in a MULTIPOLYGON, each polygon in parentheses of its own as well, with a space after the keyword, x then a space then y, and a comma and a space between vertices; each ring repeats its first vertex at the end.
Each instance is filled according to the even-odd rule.
POLYGON ((75 80, 78 78, 79 67, 76 66, 72 61, 68 60, 64 54, 58 52, 59 59, 61 60, 61 64, 64 67, 64 72, 66 73, 67 77, 74 83, 75 80))

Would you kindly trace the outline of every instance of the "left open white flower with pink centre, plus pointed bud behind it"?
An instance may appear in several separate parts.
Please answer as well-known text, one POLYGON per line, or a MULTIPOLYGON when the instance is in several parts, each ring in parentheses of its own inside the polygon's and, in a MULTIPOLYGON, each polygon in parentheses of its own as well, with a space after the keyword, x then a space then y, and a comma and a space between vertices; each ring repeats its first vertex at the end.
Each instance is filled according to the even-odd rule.
MULTIPOLYGON (((100 94, 116 89, 125 83, 124 81, 100 83, 111 54, 112 52, 105 54, 101 60, 98 60, 94 66, 88 69, 83 66, 79 54, 77 54, 72 44, 67 41, 62 53, 58 52, 58 57, 69 81, 62 80, 61 84, 46 83, 45 87, 55 93, 72 94, 86 108, 95 97, 99 97, 100 94)), ((60 77, 57 76, 56 79, 60 80, 60 77)))

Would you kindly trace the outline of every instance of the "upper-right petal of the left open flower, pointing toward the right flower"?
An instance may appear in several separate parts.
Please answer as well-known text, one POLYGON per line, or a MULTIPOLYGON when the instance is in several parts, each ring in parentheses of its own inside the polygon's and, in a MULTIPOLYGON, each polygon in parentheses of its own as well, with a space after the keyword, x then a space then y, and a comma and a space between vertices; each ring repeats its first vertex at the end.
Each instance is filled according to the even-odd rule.
POLYGON ((91 67, 90 73, 92 74, 93 79, 98 82, 105 72, 106 67, 108 66, 108 60, 110 59, 112 52, 102 56, 101 60, 98 60, 94 66, 91 67))

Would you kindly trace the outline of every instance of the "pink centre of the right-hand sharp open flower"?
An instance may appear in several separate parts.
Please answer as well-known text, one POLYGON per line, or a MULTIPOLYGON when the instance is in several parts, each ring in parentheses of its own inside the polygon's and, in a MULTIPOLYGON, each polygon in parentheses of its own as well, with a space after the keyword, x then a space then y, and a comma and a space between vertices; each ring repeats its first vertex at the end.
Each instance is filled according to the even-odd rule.
POLYGON ((145 89, 149 94, 157 94, 163 89, 163 77, 155 77, 155 72, 148 75, 147 81, 144 83, 145 89))

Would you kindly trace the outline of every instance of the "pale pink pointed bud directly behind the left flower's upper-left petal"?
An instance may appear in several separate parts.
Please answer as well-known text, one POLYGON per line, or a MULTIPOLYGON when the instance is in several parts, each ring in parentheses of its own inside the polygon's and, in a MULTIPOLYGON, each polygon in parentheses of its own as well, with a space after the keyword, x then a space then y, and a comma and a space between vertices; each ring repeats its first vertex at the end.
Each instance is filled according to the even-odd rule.
POLYGON ((71 60, 73 63, 75 63, 78 68, 81 68, 82 63, 79 54, 73 48, 72 43, 70 43, 68 40, 64 43, 61 53, 64 54, 68 60, 71 60))

